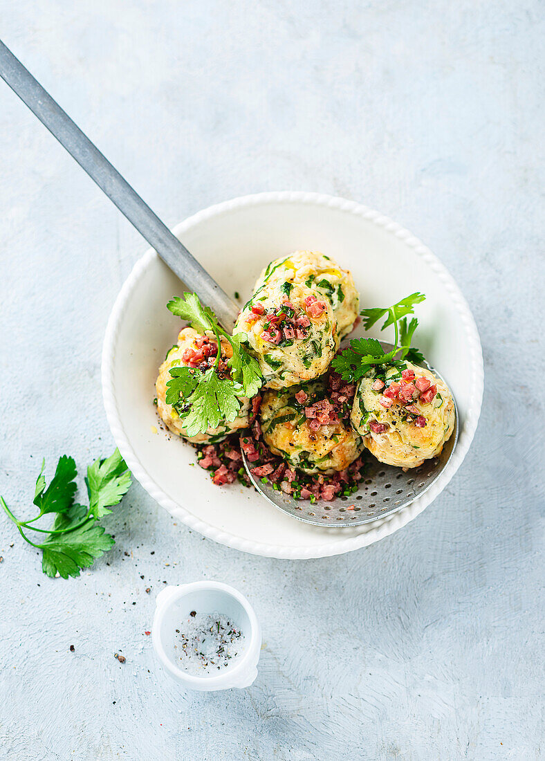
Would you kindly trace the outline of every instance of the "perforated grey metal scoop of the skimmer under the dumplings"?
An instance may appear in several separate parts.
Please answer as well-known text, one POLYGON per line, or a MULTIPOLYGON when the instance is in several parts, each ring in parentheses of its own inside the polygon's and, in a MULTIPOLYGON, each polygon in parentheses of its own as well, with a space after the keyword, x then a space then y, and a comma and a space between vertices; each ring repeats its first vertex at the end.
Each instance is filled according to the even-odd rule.
MULTIPOLYGON (((385 352, 394 349, 392 344, 383 341, 381 341, 381 345, 385 352)), ((441 374, 427 362, 423 362, 422 366, 444 380, 441 374)), ((455 400, 454 416, 454 431, 443 447, 441 454, 432 460, 425 460, 417 468, 410 468, 410 470, 403 472, 401 468, 394 468, 379 462, 365 449, 365 477, 360 483, 358 491, 349 497, 336 497, 331 501, 318 500, 314 505, 311 505, 308 500, 295 499, 280 490, 273 489, 272 483, 262 482, 261 479, 253 476, 250 470, 251 463, 248 462, 243 451, 244 467, 257 491, 276 508, 297 518, 298 521, 332 529, 381 521, 388 515, 403 510, 406 505, 410 505, 412 501, 432 486, 441 471, 445 469, 454 452, 458 438, 458 413, 455 400)))

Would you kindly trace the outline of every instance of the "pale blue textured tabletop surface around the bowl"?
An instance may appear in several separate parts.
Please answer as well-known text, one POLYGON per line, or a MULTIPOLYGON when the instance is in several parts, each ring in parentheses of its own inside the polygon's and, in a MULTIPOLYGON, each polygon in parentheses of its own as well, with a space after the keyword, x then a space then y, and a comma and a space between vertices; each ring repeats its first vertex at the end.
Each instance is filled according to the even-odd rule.
MULTIPOLYGON (((379 209, 457 279, 486 368, 480 426, 448 489, 359 552, 247 556, 175 525, 136 485, 109 521, 110 555, 49 580, 0 518, 0 756, 540 758, 543 7, 0 11, 5 43, 167 224, 268 189, 379 209), (144 634, 155 594, 202 577, 239 587, 262 622, 243 692, 177 694, 156 669, 144 634)), ((146 246, 4 84, 0 135, 0 492, 24 512, 44 454, 50 473, 62 452, 82 469, 113 448, 101 342, 146 246)))

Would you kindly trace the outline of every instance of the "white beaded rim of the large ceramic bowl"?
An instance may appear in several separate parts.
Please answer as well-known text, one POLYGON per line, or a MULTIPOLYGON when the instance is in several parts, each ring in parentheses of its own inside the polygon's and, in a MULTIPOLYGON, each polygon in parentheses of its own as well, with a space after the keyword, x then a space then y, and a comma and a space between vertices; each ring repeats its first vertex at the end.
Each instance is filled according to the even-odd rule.
POLYGON ((334 556, 342 554, 343 552, 350 552, 353 549, 368 546, 378 540, 384 539, 384 537, 389 536, 391 533, 394 533, 394 531, 399 530, 410 521, 413 521, 413 518, 425 510, 438 494, 445 489, 445 486, 447 486, 452 476, 454 476, 454 473, 456 473, 457 469, 461 466, 461 463, 469 450, 471 441, 473 441, 473 436, 475 435, 476 426, 479 421, 483 400, 483 352, 481 349, 479 333, 477 332, 476 323, 471 314, 470 307, 464 296, 461 294, 456 282, 454 282, 454 279, 448 270, 445 269, 445 266, 443 266, 428 247, 422 244, 422 242, 408 230, 402 228, 400 224, 397 224, 397 222, 382 215, 380 212, 368 209, 367 206, 362 204, 321 193, 304 193, 296 191, 255 193, 250 196, 241 196, 231 199, 230 201, 209 206, 209 208, 203 209, 195 215, 186 218, 186 220, 180 224, 177 224, 176 227, 173 228, 173 232, 177 237, 180 237, 187 229, 193 228, 194 225, 200 224, 216 215, 231 212, 233 209, 245 205, 279 202, 288 204, 313 203, 324 205, 330 208, 339 209, 343 212, 350 212, 354 215, 362 216, 366 221, 371 221, 379 227, 384 228, 388 233, 403 240, 404 244, 412 248, 414 253, 425 260, 425 263, 427 263, 435 274, 438 275, 438 278, 451 296, 454 305, 457 307, 457 311, 460 314, 461 322, 464 325, 464 330, 466 331, 468 338, 467 351, 470 358, 473 391, 467 408, 467 416, 460 431, 451 460, 432 487, 406 508, 391 515, 391 517, 376 521, 376 525, 367 524, 368 530, 359 533, 355 537, 343 538, 343 530, 339 529, 335 533, 332 531, 332 539, 336 536, 336 540, 332 540, 330 543, 320 543, 316 546, 307 545, 300 547, 250 541, 238 537, 234 533, 219 530, 217 527, 210 526, 199 517, 196 517, 196 515, 186 511, 185 508, 171 499, 161 489, 161 486, 151 478, 138 457, 136 457, 123 428, 123 422, 120 420, 113 389, 113 349, 116 343, 118 326, 132 288, 145 269, 150 265, 151 261, 158 256, 153 249, 148 249, 148 251, 146 251, 146 253, 141 256, 133 266, 132 271, 123 283, 120 293, 113 304, 113 309, 107 323, 106 334, 104 336, 101 370, 104 406, 106 408, 107 420, 113 438, 127 465, 132 471, 132 475, 140 482, 148 494, 161 505, 161 507, 165 508, 174 517, 177 517, 177 519, 186 524, 187 527, 198 531, 203 536, 215 540, 218 543, 225 544, 234 549, 240 549, 243 552, 250 552, 254 555, 275 557, 279 559, 307 559, 334 556), (369 528, 369 526, 371 527, 369 528))

